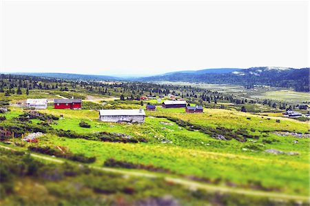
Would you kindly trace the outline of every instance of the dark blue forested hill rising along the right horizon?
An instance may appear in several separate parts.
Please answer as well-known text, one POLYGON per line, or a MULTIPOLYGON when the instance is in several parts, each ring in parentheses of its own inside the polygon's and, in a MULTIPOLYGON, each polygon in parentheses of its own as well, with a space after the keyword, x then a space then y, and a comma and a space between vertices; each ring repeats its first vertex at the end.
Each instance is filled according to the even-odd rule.
POLYGON ((149 76, 140 81, 185 81, 200 83, 231 83, 253 87, 270 85, 291 87, 298 92, 309 92, 309 68, 294 69, 280 67, 258 67, 248 69, 211 69, 194 72, 172 72, 149 76))

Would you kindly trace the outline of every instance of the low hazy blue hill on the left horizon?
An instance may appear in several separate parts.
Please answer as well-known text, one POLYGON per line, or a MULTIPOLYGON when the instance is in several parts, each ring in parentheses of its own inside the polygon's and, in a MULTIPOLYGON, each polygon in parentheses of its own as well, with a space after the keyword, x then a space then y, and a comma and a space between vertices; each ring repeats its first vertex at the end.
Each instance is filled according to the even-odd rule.
POLYGON ((59 79, 71 80, 85 80, 85 81, 105 81, 105 80, 119 80, 121 78, 115 76, 94 75, 94 74, 68 74, 68 73, 14 73, 28 76, 43 76, 59 79))

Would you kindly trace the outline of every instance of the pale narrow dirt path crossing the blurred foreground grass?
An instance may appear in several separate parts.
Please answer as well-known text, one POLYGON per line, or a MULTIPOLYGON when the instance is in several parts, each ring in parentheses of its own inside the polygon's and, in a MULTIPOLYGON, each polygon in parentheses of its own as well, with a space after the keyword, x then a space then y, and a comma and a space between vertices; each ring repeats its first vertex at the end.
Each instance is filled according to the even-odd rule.
MULTIPOLYGON (((6 147, 3 145, 0 145, 1 148, 6 150, 14 150, 11 147, 6 147)), ((14 150, 17 151, 17 150, 14 150)), ((64 163, 65 161, 60 160, 56 157, 47 157, 42 156, 39 154, 32 154, 30 153, 30 156, 33 156, 34 158, 41 158, 45 161, 52 161, 54 163, 64 163)), ((96 166, 89 166, 92 169, 98 169, 104 172, 112 172, 116 174, 125 174, 129 176, 141 176, 146 178, 160 178, 160 174, 154 174, 149 172, 132 172, 122 169, 114 169, 110 167, 96 167, 96 166)), ((223 193, 234 193, 234 194, 243 194, 243 195, 250 195, 250 196, 260 196, 265 198, 280 198, 283 200, 303 200, 303 201, 309 201, 308 196, 299 196, 299 195, 289 195, 289 194, 282 194, 282 193, 273 193, 273 192, 263 192, 263 191, 257 191, 257 190, 250 190, 250 189, 239 189, 239 188, 231 188, 231 187, 223 187, 218 185, 208 185, 205 183, 198 183, 195 181, 188 181, 182 178, 174 178, 174 177, 164 177, 165 181, 170 183, 176 183, 179 185, 183 185, 184 187, 187 187, 189 189, 205 189, 207 191, 212 192, 223 192, 223 193)))

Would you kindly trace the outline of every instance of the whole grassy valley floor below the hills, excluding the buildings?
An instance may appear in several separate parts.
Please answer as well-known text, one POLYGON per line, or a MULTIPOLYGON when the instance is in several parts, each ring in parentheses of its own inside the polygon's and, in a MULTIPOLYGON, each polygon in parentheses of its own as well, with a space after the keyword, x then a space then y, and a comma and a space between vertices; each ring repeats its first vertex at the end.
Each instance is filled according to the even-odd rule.
MULTIPOLYGON (((17 83, 15 80, 13 85, 17 83)), ((28 83, 30 80, 25 81, 28 83)), ((280 107, 296 107, 306 114, 309 109, 298 110, 296 103, 309 94, 272 87, 246 90, 235 85, 191 83, 167 87, 58 80, 39 83, 54 89, 39 90, 36 86, 29 94, 25 94, 25 87, 22 94, 0 92, 1 107, 9 110, 0 114, 0 129, 20 135, 12 138, 1 133, 0 172, 7 182, 0 187, 0 194, 6 197, 0 198, 0 204, 145 205, 141 200, 149 198, 168 198, 169 203, 176 200, 177 205, 309 204, 309 119, 287 118, 280 107), (138 100, 152 92, 156 96, 163 92, 182 95, 191 105, 203 105, 204 112, 165 109, 156 98, 138 100), (81 110, 54 109, 53 99, 72 96, 83 99, 81 110), (275 107, 262 103, 273 96, 275 107), (38 116, 9 105, 28 98, 47 98, 50 103, 46 110, 33 112, 38 116), (294 103, 287 103, 289 100, 294 103), (155 104, 156 111, 145 111, 144 123, 99 121, 101 109, 145 109, 147 103, 155 104), (242 108, 246 112, 240 112, 242 108), (22 140, 33 132, 43 132, 37 143, 22 140), (9 154, 9 149, 14 152, 9 154), (271 149, 282 153, 265 152, 271 149), (30 200, 36 192, 47 198, 30 200)), ((165 95, 161 101, 167 99, 165 95)))

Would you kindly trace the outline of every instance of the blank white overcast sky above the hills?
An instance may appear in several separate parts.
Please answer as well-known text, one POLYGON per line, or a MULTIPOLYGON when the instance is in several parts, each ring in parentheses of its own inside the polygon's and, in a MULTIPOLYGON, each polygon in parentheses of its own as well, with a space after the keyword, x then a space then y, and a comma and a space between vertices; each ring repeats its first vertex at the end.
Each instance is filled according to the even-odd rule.
POLYGON ((1 72, 309 67, 309 1, 6 1, 1 72))

